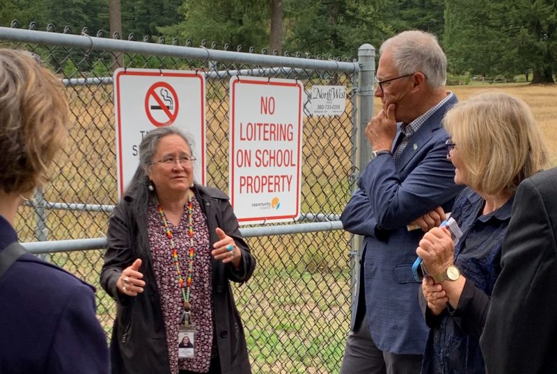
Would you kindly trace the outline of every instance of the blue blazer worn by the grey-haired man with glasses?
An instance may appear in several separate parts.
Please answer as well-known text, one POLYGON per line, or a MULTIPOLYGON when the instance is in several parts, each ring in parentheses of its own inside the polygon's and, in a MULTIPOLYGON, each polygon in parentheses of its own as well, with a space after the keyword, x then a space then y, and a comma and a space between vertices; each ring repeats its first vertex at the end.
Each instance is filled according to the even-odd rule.
MULTIPOLYGON (((441 123, 456 101, 451 97, 423 123, 397 162, 388 154, 370 161, 340 216, 345 230, 365 236, 360 274, 370 333, 380 350, 422 355, 425 348, 428 329, 417 296, 421 284, 411 270, 423 231, 408 231, 407 224, 440 205, 450 211, 463 187, 455 185, 455 168, 445 147, 448 134, 441 123)), ((361 280, 352 305, 352 329, 361 280)))

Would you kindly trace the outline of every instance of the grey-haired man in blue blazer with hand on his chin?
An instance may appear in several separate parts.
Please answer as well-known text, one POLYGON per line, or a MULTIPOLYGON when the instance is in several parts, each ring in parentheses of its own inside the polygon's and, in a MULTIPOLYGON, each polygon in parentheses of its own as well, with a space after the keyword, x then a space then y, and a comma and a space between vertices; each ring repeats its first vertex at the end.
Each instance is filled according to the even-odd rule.
POLYGON ((383 109, 366 127, 374 152, 340 216, 345 230, 365 236, 342 374, 420 371, 427 327, 411 266, 423 232, 407 225, 450 207, 462 189, 446 159, 441 120, 457 99, 444 87, 437 38, 405 31, 380 51, 375 97, 383 109))

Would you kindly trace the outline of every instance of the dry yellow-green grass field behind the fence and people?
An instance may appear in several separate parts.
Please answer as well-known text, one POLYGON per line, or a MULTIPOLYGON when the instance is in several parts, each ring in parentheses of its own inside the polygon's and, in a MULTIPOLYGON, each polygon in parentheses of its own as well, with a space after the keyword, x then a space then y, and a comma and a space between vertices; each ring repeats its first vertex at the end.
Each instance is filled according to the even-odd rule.
MULTIPOLYGON (((48 201, 116 201, 112 108, 94 104, 111 97, 110 90, 107 86, 105 92, 94 92, 94 101, 90 92, 71 93, 74 120, 79 127, 72 129, 64 166, 57 170, 51 189, 45 193, 48 201)), ((524 99, 546 136, 551 165, 557 166, 556 85, 450 86, 448 90, 460 100, 485 90, 503 90, 524 99)), ((228 97, 215 97, 207 103, 207 154, 212 155, 207 174, 214 176, 210 184, 226 190, 228 165, 223 161, 228 152, 228 97)), ((375 108, 377 113, 379 99, 375 99, 375 108)), ((302 212, 342 211, 350 197, 350 152, 354 150, 351 130, 348 115, 305 120, 302 212)), ((34 215, 33 209, 22 209, 17 227, 22 241, 35 238, 31 225, 34 215)), ((48 238, 103 236, 108 216, 49 211, 48 238)), ((350 235, 326 231, 248 241, 258 268, 248 284, 234 290, 245 323, 253 372, 338 373, 350 323, 350 235)), ((102 251, 53 254, 51 258, 98 286, 102 251)), ((114 307, 102 290, 97 291, 97 314, 109 332, 114 307)))

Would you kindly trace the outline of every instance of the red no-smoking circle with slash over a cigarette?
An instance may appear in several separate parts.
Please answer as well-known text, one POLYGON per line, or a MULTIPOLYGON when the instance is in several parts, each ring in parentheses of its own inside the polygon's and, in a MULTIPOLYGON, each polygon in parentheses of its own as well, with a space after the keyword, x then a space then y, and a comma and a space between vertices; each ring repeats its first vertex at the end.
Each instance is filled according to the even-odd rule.
POLYGON ((150 122, 156 127, 163 127, 173 124, 178 117, 178 95, 174 88, 166 82, 157 82, 150 86, 147 90, 147 95, 145 96, 145 112, 150 122), (162 90, 159 88, 166 89, 173 97, 165 97, 162 90), (150 99, 155 99, 157 105, 150 105, 150 99), (172 101, 173 99, 173 101, 172 101), (153 111, 162 111, 157 117, 162 120, 157 120, 152 113, 153 111), (166 120, 168 118, 168 120, 166 120))

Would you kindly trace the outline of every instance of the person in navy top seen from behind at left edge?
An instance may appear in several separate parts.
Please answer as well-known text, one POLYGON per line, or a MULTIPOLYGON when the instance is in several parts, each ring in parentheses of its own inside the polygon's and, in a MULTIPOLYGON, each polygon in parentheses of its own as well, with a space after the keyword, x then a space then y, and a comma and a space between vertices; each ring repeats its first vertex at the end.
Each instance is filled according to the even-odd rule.
POLYGON ((60 79, 29 52, 0 49, 0 373, 109 372, 95 289, 24 251, 13 229, 68 124, 60 79))

